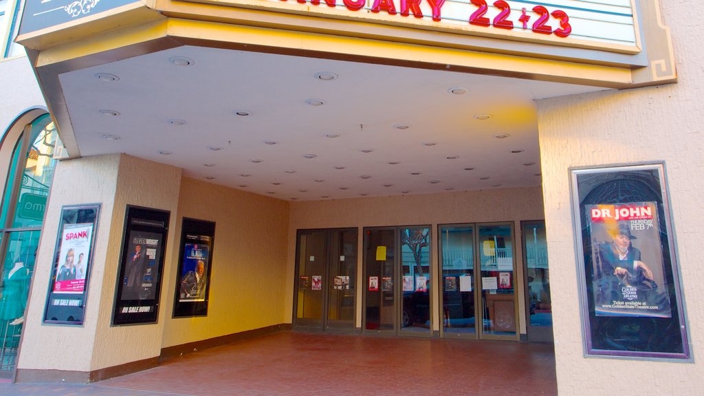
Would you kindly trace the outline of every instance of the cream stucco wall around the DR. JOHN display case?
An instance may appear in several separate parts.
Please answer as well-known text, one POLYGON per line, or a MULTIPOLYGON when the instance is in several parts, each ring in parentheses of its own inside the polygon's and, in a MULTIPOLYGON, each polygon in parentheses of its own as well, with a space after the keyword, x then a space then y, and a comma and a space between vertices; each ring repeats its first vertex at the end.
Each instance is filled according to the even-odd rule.
POLYGON ((665 161, 695 361, 704 352, 704 41, 700 1, 662 1, 679 82, 539 101, 555 359, 560 395, 700 395, 701 364, 583 357, 570 215, 570 166, 665 161))

